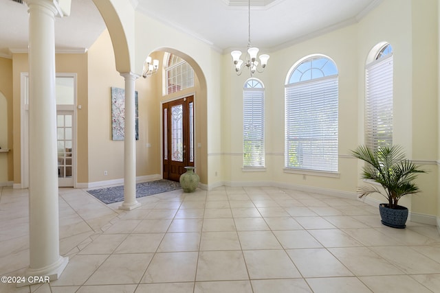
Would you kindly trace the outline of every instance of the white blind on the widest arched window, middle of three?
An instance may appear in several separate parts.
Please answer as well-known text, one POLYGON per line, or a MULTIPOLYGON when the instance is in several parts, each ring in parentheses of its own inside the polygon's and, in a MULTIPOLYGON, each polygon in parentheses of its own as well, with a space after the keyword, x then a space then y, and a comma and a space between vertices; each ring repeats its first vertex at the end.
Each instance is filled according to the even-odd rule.
POLYGON ((287 84, 285 165, 338 171, 338 76, 287 84))

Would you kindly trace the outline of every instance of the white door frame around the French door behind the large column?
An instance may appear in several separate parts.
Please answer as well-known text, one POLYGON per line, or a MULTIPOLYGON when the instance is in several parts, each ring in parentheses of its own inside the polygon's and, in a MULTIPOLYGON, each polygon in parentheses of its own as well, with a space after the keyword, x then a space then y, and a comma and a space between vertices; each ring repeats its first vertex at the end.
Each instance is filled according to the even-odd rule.
MULTIPOLYGON (((74 104, 73 105, 56 105, 56 110, 73 111, 72 126, 72 178, 73 187, 76 188, 76 149, 77 149, 77 125, 76 125, 76 104, 77 104, 77 74, 76 73, 56 73, 56 78, 74 78, 74 104)), ((20 117, 21 117, 21 150, 20 150, 20 184, 14 184, 14 188, 24 189, 29 187, 29 73, 20 73, 20 117)))

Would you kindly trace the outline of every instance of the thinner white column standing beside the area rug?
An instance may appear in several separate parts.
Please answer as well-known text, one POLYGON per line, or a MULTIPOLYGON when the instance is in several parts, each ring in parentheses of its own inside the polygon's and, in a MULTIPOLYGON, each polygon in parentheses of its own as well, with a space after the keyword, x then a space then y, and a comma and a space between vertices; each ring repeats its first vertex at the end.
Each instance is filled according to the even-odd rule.
POLYGON ((135 80, 134 73, 121 73, 125 78, 124 117, 124 202, 119 209, 140 207, 136 200, 136 138, 135 138, 135 80))

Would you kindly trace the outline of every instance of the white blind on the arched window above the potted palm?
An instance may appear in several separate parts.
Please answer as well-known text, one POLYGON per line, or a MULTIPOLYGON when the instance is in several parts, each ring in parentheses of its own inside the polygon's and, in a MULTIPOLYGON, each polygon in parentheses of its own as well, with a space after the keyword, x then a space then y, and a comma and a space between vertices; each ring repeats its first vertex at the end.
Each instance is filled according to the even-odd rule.
POLYGON ((365 143, 372 150, 393 144, 393 54, 366 67, 365 143))

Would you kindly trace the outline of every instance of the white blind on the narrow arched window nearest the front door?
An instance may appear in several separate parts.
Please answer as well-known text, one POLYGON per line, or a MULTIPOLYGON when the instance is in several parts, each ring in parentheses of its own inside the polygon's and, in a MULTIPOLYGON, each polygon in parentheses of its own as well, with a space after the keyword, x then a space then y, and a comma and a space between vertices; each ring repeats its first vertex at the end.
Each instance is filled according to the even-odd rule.
POLYGON ((243 89, 243 167, 264 167, 264 89, 243 89))

